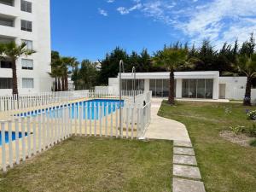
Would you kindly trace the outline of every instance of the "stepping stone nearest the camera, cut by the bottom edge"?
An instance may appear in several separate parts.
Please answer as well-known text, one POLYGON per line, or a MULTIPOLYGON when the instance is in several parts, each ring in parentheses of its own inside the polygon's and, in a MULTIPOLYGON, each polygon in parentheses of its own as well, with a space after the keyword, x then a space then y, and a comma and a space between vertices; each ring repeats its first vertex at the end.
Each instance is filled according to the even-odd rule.
POLYGON ((172 192, 206 192, 206 189, 200 181, 173 178, 172 192))

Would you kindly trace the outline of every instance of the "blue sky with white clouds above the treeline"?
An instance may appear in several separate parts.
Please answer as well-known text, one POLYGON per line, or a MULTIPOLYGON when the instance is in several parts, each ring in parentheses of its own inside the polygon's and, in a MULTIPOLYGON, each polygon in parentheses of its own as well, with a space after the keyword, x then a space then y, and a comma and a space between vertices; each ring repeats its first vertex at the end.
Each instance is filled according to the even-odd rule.
POLYGON ((102 59, 116 46, 150 53, 177 40, 219 48, 256 32, 256 0, 51 0, 52 49, 102 59))

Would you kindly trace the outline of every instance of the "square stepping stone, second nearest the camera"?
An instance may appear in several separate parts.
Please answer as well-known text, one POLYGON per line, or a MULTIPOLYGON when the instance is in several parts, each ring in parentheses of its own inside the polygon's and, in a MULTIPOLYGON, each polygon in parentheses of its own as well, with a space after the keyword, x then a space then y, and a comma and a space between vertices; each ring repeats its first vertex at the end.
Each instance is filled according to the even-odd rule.
POLYGON ((199 168, 195 166, 173 165, 173 175, 201 179, 199 168))

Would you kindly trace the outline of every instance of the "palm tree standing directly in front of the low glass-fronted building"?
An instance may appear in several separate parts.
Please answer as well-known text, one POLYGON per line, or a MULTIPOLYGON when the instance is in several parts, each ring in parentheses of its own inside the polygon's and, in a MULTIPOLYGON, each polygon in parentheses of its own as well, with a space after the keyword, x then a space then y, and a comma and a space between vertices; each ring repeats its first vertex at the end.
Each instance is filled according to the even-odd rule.
POLYGON ((170 72, 169 81, 169 98, 168 102, 174 105, 174 72, 177 71, 183 64, 186 63, 188 58, 188 49, 183 48, 182 45, 177 43, 175 46, 166 47, 159 50, 154 54, 154 65, 165 67, 166 71, 170 72))

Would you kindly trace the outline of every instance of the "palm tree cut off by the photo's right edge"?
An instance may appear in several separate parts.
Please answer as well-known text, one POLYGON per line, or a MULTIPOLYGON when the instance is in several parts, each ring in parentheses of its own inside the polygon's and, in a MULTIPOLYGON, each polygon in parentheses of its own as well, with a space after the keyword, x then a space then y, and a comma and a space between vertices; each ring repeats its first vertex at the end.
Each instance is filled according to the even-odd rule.
POLYGON ((256 78, 256 54, 241 55, 237 58, 236 69, 239 73, 244 73, 247 76, 246 92, 243 100, 244 106, 251 106, 251 88, 252 80, 256 78))

